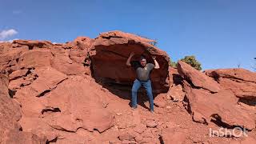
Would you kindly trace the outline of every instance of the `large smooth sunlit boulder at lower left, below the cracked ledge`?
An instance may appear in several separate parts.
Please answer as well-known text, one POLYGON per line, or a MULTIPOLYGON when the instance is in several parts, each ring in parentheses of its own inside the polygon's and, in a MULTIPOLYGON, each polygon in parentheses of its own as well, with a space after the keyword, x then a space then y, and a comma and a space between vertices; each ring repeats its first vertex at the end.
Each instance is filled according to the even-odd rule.
POLYGON ((40 138, 52 139, 56 134, 66 136, 62 132, 76 132, 79 128, 102 133, 114 126, 113 115, 105 109, 106 92, 91 78, 70 76, 39 98, 26 87, 15 94, 24 105, 25 117, 21 121, 24 131, 32 130, 40 138), (47 133, 43 134, 41 129, 47 133))

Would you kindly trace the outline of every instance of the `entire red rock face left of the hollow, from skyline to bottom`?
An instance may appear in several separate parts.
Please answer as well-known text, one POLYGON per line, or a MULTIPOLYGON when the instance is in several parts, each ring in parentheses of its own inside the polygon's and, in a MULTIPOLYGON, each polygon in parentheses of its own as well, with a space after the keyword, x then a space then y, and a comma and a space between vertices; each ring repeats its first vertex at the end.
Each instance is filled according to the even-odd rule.
POLYGON ((61 138, 87 142, 88 138, 70 134, 79 129, 102 133, 114 125, 113 115, 105 109, 108 92, 90 77, 93 41, 78 37, 65 44, 26 40, 0 44, 0 71, 10 77, 1 76, 0 82, 0 102, 5 103, 0 106, 5 112, 0 114, 0 128, 6 134, 0 143, 61 138))

